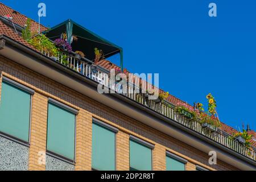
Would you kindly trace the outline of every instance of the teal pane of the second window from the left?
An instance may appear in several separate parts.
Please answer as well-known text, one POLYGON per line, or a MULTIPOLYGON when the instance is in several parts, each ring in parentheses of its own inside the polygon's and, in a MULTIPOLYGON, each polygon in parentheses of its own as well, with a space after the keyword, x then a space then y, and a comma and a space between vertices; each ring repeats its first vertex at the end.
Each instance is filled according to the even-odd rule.
POLYGON ((55 104, 48 104, 48 151, 75 159, 75 119, 75 114, 55 104))

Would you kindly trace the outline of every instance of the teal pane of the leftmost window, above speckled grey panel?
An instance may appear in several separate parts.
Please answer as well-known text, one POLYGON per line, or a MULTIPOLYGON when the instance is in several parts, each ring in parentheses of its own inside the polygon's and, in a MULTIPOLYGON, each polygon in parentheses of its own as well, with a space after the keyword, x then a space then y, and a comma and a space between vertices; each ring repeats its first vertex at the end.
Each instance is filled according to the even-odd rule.
POLYGON ((31 94, 2 82, 0 131, 28 142, 31 94))

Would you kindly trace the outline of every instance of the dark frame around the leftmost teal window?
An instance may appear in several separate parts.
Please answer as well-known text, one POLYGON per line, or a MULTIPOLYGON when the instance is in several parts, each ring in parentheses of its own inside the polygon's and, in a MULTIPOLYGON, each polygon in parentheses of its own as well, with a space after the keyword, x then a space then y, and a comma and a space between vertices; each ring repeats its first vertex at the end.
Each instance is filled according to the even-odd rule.
MULTIPOLYGON (((4 133, 2 131, 0 131, 0 136, 3 137, 3 138, 6 138, 6 139, 10 139, 13 142, 16 142, 16 143, 22 144, 24 146, 30 147, 30 144, 31 144, 32 99, 33 99, 33 96, 35 94, 35 90, 30 89, 27 86, 24 86, 22 84, 19 84, 18 82, 14 81, 14 80, 11 80, 10 78, 7 78, 5 76, 2 76, 1 87, 3 85, 2 84, 3 82, 6 82, 7 84, 10 84, 10 85, 14 86, 15 88, 18 88, 18 89, 23 90, 24 92, 27 92, 28 94, 30 94, 30 115, 29 115, 30 119, 28 121, 28 141, 24 141, 22 139, 19 139, 17 137, 14 137, 14 136, 12 136, 10 134, 7 134, 7 133, 4 133)), ((1 89, 1 92, 2 92, 2 89, 1 89)), ((2 93, 1 93, 1 97, 3 97, 2 93)))

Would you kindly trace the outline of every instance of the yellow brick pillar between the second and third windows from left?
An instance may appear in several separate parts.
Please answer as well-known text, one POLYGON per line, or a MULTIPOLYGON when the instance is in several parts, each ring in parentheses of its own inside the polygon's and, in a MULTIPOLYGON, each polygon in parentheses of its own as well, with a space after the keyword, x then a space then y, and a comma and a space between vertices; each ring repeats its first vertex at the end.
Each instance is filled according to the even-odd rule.
POLYGON ((76 123, 76 171, 92 170, 92 114, 80 110, 76 123))

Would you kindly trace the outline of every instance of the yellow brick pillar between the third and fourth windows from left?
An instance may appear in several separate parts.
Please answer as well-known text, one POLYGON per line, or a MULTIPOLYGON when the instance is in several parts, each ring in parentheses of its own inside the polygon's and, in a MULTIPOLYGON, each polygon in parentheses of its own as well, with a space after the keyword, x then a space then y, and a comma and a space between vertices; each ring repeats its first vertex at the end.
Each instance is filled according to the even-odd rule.
POLYGON ((119 131, 117 133, 117 171, 130 170, 130 135, 119 131))

